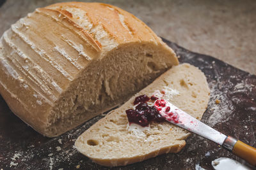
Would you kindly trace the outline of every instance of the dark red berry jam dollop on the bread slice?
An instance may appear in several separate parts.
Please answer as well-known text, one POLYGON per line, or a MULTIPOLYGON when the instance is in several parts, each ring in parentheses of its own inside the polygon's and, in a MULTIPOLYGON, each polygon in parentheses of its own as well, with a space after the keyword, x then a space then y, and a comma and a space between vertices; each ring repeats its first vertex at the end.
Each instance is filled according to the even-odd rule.
POLYGON ((148 106, 149 100, 155 101, 157 97, 148 97, 147 95, 141 95, 135 98, 134 104, 138 104, 135 110, 125 110, 129 123, 141 125, 142 127, 148 126, 150 122, 163 122, 165 119, 159 114, 159 111, 155 106, 148 106))

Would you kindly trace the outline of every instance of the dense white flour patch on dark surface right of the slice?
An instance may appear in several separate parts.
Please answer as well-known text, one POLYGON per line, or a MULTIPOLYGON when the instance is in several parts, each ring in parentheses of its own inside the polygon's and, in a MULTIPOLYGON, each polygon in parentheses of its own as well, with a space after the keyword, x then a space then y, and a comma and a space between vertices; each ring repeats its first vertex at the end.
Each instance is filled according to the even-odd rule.
MULTIPOLYGON (((220 73, 216 73, 220 74, 220 73)), ((218 78, 218 76, 216 76, 218 78)), ((232 75, 228 81, 211 81, 209 83, 211 89, 211 99, 209 101, 209 112, 211 115, 207 117, 205 122, 213 127, 220 122, 227 122, 230 119, 230 115, 241 103, 241 94, 250 94, 253 89, 252 83, 248 83, 248 80, 242 80, 239 76, 232 75), (234 83, 233 80, 240 81, 234 83), (220 90, 222 89, 222 90, 220 90), (216 104, 216 99, 221 102, 216 104)), ((248 107, 246 110, 255 111, 256 108, 248 107)))

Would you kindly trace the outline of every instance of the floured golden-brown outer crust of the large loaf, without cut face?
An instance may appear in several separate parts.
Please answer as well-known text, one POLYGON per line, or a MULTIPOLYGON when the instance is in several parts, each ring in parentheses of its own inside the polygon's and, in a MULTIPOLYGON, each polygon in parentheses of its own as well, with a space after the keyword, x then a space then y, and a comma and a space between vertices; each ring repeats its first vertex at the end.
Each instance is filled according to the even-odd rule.
POLYGON ((33 129, 58 136, 68 129, 51 134, 46 128, 60 97, 93 61, 131 43, 159 46, 172 65, 179 64, 147 25, 115 6, 72 2, 38 8, 1 37, 0 93, 33 129))

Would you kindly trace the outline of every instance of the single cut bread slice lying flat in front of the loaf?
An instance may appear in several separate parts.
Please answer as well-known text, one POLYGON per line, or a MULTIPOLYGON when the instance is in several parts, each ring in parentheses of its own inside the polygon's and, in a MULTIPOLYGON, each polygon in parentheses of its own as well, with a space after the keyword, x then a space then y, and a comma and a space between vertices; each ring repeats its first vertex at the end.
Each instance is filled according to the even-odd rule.
POLYGON ((165 90, 164 99, 198 120, 210 95, 202 71, 190 64, 174 66, 81 134, 75 143, 77 150, 103 166, 125 166, 163 153, 179 152, 186 145, 188 131, 168 122, 152 122, 148 128, 134 131, 134 124, 130 126, 127 120, 125 110, 134 108, 135 97, 152 96, 157 90, 165 90))

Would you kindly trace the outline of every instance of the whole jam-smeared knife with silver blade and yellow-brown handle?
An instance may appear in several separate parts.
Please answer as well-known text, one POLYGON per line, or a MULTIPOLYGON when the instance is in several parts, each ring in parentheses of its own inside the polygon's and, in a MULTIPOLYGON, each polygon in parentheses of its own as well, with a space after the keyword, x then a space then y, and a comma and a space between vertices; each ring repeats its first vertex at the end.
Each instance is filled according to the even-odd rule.
POLYGON ((214 141, 253 166, 256 166, 256 149, 252 146, 216 131, 164 99, 157 99, 154 106, 168 122, 214 141))

